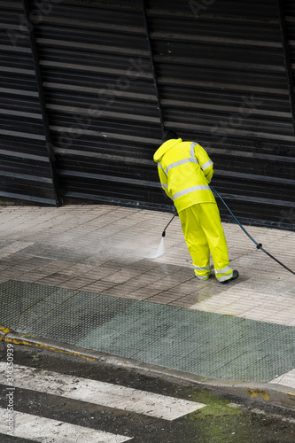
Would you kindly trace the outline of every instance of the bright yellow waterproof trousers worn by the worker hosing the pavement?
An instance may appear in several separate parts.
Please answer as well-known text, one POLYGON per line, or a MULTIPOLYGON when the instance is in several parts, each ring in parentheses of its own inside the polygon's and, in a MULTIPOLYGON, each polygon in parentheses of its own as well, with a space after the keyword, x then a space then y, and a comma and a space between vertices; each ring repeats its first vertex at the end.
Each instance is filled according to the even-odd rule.
POLYGON ((200 280, 210 276, 210 252, 215 276, 220 282, 232 277, 228 245, 221 226, 216 203, 198 203, 179 212, 182 232, 193 261, 195 275, 200 280))

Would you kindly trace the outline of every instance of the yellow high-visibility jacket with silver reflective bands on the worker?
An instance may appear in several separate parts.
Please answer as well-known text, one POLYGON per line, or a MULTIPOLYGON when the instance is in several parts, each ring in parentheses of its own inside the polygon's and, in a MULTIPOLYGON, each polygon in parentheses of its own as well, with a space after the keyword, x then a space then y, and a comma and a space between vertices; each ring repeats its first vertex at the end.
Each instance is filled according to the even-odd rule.
POLYGON ((213 161, 199 144, 181 138, 167 140, 153 159, 158 163, 161 186, 178 212, 196 203, 215 202, 209 187, 213 161))

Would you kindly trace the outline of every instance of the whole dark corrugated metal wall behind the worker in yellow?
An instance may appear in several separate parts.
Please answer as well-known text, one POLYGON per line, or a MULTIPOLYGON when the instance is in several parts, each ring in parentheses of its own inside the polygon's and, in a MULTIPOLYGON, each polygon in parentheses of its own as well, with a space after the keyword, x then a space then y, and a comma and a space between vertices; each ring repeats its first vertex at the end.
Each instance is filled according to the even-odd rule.
POLYGON ((165 125, 207 149, 241 221, 294 229, 291 0, 0 1, 0 14, 0 196, 167 210, 152 161, 165 125))

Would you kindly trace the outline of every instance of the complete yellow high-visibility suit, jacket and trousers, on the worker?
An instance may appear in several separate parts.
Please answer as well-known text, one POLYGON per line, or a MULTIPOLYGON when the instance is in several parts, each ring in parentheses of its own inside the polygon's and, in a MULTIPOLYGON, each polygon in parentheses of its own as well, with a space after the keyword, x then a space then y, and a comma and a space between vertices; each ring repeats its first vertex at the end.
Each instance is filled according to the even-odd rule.
POLYGON ((195 142, 181 138, 167 140, 153 156, 158 163, 162 188, 175 204, 185 242, 193 260, 195 275, 210 276, 210 252, 215 276, 220 282, 233 276, 229 266, 228 245, 221 217, 209 183, 213 161, 195 142))

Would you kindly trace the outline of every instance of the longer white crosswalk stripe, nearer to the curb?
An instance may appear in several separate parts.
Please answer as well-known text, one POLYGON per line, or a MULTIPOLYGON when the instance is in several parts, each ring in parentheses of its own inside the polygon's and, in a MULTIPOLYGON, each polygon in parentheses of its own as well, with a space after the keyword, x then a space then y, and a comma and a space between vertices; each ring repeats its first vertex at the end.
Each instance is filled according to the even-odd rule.
MULTIPOLYGON (((5 374, 5 365, 4 361, 0 361, 0 376, 5 374)), ((5 380, 5 377, 0 379, 5 380)), ((175 399, 167 395, 17 364, 13 366, 13 386, 165 420, 175 420, 206 406, 195 401, 175 399)))

